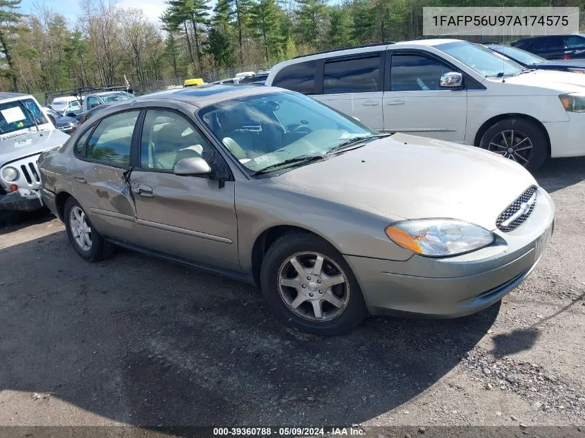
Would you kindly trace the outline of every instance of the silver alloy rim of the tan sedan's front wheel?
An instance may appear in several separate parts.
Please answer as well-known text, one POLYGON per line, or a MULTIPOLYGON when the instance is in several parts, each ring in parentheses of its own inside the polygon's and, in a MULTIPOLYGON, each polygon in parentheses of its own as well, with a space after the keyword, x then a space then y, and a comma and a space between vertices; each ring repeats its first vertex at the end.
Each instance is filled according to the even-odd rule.
POLYGON ((341 267, 320 253, 296 253, 278 270, 280 298, 298 316, 332 320, 348 307, 350 284, 341 267))

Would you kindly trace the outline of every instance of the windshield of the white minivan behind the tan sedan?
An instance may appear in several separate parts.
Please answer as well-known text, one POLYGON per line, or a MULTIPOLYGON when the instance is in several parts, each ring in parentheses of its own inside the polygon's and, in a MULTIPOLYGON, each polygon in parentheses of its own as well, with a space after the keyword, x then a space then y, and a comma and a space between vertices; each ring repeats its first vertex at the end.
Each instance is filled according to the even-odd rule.
POLYGON ((489 48, 480 46, 479 44, 458 41, 439 44, 435 47, 485 77, 516 75, 523 71, 523 66, 517 62, 497 55, 489 48))

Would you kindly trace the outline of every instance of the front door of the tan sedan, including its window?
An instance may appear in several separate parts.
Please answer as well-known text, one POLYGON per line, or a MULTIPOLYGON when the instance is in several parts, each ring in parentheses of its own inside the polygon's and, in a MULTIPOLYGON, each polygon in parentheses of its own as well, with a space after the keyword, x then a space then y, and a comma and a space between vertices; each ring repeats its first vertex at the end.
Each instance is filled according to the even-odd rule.
MULTIPOLYGON (((215 148, 188 118, 148 109, 141 136, 141 167, 131 181, 139 245, 201 264, 240 271, 234 183, 179 176, 174 165, 214 155, 215 148)), ((211 163, 213 166, 217 162, 211 163)))

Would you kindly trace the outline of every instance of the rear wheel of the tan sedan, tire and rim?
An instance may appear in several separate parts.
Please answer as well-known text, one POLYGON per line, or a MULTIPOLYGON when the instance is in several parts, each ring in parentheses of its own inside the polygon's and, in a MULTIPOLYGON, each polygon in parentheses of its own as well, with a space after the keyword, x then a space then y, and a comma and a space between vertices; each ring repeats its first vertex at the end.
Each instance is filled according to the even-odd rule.
POLYGON ((82 258, 88 262, 97 262, 111 255, 114 246, 93 228, 78 201, 67 199, 63 219, 69 241, 82 258))

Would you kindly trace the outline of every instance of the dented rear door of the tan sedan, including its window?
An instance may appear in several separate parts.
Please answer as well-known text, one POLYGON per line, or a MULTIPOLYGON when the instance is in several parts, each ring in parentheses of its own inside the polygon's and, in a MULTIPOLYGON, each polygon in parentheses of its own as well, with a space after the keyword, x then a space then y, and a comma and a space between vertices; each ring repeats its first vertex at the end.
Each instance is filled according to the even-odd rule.
POLYGON ((136 208, 126 176, 139 114, 116 113, 87 129, 75 144, 77 159, 69 169, 73 197, 93 226, 103 235, 129 242, 136 237, 136 208))

